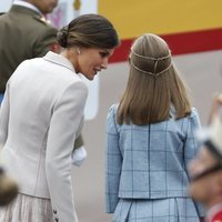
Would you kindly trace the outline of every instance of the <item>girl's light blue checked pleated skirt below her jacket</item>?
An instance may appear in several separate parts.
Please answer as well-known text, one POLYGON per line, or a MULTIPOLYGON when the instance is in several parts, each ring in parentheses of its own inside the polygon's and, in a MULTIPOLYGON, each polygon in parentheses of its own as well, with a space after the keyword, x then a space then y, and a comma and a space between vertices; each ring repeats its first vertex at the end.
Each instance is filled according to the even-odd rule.
POLYGON ((198 222, 194 203, 189 198, 137 200, 121 199, 112 222, 198 222))

